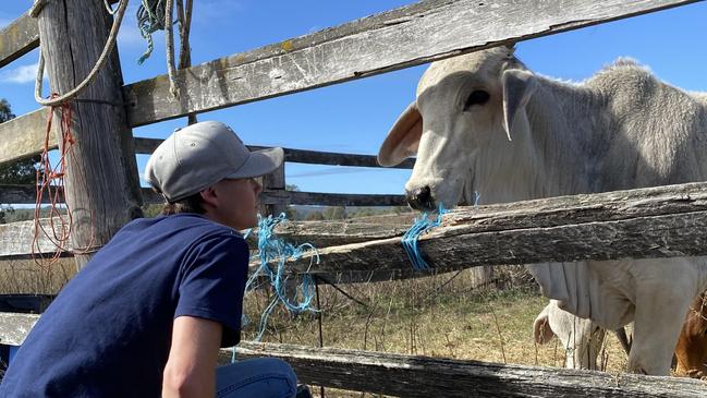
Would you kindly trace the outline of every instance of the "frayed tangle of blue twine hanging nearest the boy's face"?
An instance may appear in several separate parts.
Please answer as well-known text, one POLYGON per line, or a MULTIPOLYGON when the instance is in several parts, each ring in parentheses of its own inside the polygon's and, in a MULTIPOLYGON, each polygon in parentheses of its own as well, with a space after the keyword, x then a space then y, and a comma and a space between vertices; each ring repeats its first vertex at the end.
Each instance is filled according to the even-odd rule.
MULTIPOLYGON (((283 221, 287 221, 288 218, 284 213, 280 214, 279 217, 268 216, 267 218, 258 215, 258 252, 253 256, 253 258, 260 260, 260 266, 251 275, 248 280, 245 284, 245 291, 251 292, 255 289, 253 286, 254 282, 259 277, 266 277, 272 286, 273 291, 276 292, 272 301, 265 309, 260 315, 260 324, 257 337, 255 341, 260 341, 267 326, 268 317, 275 311, 278 303, 281 303, 288 311, 298 314, 305 311, 316 312, 312 307, 312 300, 315 297, 315 282, 312 275, 305 274, 302 277, 302 282, 298 287, 295 287, 293 294, 289 294, 287 291, 287 281, 289 276, 285 276, 285 263, 288 260, 297 260, 307 251, 314 251, 314 256, 310 260, 309 266, 314 264, 316 258, 317 264, 319 264, 319 253, 317 249, 310 243, 303 243, 298 246, 294 246, 291 243, 285 242, 284 240, 278 238, 272 231, 275 227, 283 221), (272 269, 270 264, 277 264, 276 269, 272 269), (290 299, 290 296, 292 299, 290 299), (296 298, 300 296, 301 301, 297 301, 296 298)), ((252 229, 245 232, 245 238, 247 238, 253 232, 252 229)), ((243 315, 242 324, 243 326, 249 323, 248 318, 243 315)), ((233 351, 233 360, 235 358, 235 350, 233 351)))

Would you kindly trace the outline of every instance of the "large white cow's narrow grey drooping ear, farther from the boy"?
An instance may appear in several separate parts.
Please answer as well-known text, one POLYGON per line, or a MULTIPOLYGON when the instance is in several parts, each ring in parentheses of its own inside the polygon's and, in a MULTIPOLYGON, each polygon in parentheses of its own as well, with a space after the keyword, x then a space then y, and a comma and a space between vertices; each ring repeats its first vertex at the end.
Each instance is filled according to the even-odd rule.
POLYGON ((521 112, 525 112, 531 96, 537 87, 537 79, 528 71, 509 69, 501 76, 503 86, 503 129, 511 141, 513 123, 521 112))

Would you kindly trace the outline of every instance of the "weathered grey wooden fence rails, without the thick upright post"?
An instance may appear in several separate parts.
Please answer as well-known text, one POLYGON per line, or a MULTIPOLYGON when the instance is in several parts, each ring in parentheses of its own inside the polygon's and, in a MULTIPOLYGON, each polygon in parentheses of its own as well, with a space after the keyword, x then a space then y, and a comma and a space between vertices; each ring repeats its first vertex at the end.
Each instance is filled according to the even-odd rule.
MULTIPOLYGON (((694 1, 420 1, 180 70, 176 73, 182 93, 179 100, 171 96, 166 75, 124 85, 121 87, 126 124, 123 128, 362 79, 691 2, 694 1), (352 48, 356 50, 350 51, 352 48), (278 65, 277 71, 272 65, 278 65)), ((40 17, 39 27, 41 21, 40 17)), ((35 48, 39 32, 36 20, 26 14, 0 31, 0 67, 35 48)), ((46 112, 39 109, 0 124, 3 137, 0 164, 42 150, 46 112)), ((158 143, 158 140, 135 137, 122 148, 148 154, 158 143)), ((56 143, 51 145, 57 147, 56 143)), ((302 149, 285 149, 285 160, 377 166, 373 156, 302 149)), ((409 160, 401 167, 412 165, 413 160, 409 160)), ((283 170, 278 173, 270 177, 264 192, 264 203, 272 206, 402 204, 399 195, 290 192, 284 189, 283 170)), ((136 178, 136 172, 126 176, 136 178)), ((111 190, 130 190, 136 183, 133 180, 120 186, 109 185, 101 192, 110 195, 111 190)), ((34 186, 0 186, 0 203, 34 203, 34 186)), ((147 190, 141 195, 146 203, 158 200, 147 190)), ((443 226, 423 238, 420 246, 439 269, 539 261, 705 255, 706 195, 707 185, 698 183, 487 206, 475 212, 461 208, 447 215, 443 226), (499 239, 504 242, 502 246, 496 244, 499 239), (540 244, 548 241, 554 245, 540 244), (474 261, 465 255, 470 250, 474 252, 474 261)), ((0 227, 3 242, 0 258, 28 255, 29 228, 28 222, 0 227)), ((402 225, 385 229, 365 222, 330 222, 282 228, 280 232, 293 240, 319 240, 320 245, 331 246, 322 250, 324 262, 313 269, 315 273, 349 273, 353 275, 351 280, 364 279, 364 275, 369 280, 371 274, 381 270, 388 277, 414 276, 401 261, 405 258, 399 245, 402 225)), ((51 249, 42 246, 45 250, 51 249)), ((295 269, 302 267, 295 264, 295 269)), ((36 316, 0 316, 1 341, 21 342, 35 321, 36 316)), ((681 378, 612 376, 278 345, 243 343, 239 351, 243 355, 285 358, 305 382, 411 397, 697 397, 707 394, 704 384, 681 378), (390 379, 397 383, 388 383, 390 379)))

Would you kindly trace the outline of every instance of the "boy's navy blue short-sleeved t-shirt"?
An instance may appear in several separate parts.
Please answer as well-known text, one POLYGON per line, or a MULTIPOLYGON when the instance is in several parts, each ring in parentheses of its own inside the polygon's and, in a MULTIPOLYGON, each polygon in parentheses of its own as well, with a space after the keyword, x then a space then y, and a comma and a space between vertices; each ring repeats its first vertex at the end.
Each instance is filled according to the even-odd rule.
POLYGON ((47 309, 17 351, 0 397, 159 397, 182 315, 240 340, 248 248, 195 214, 124 226, 47 309))

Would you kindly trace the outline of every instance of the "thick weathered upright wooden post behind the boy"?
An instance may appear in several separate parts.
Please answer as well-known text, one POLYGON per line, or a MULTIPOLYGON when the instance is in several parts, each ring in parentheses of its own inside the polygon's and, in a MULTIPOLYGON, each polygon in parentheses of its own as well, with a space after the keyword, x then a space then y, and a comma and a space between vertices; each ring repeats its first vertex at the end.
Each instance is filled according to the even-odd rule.
MULTIPOLYGON (((37 17, 51 93, 65 94, 89 75, 109 36, 114 36, 109 35, 112 17, 103 0, 46 1, 37 10, 37 17)), ((73 143, 66 155, 64 182, 66 205, 72 212, 71 248, 77 268, 124 224, 142 216, 122 83, 113 47, 95 79, 69 101, 73 143)), ((61 110, 53 109, 58 122, 61 110)), ((71 140, 61 132, 59 135, 62 150, 71 140)))

